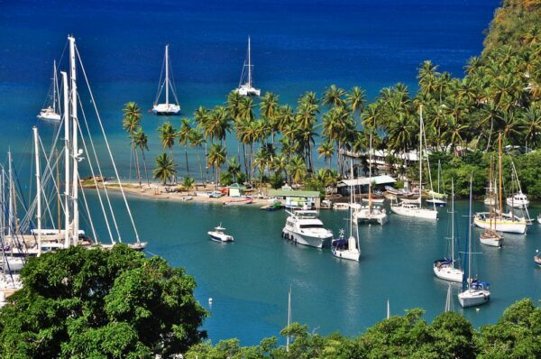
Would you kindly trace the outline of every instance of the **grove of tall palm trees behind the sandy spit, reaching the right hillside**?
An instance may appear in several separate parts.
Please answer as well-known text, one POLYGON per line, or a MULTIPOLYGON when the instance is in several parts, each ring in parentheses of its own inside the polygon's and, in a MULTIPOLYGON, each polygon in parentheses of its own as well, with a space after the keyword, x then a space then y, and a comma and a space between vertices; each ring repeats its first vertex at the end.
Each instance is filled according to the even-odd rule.
MULTIPOLYGON (((346 91, 332 85, 322 97, 307 92, 298 98, 295 108, 280 104, 271 92, 255 103, 253 97, 232 91, 223 105, 199 106, 193 120, 182 118, 179 130, 170 122, 160 125, 163 153, 156 160, 154 177, 164 183, 176 180, 173 145, 178 139, 188 177, 188 147, 197 150, 202 183, 209 182, 211 168, 215 183, 259 180, 261 185, 267 176, 277 186, 315 181, 314 187, 326 186, 347 172, 344 154, 366 150, 370 138, 375 148, 387 150, 390 157, 417 149, 421 106, 426 143, 436 151, 454 155, 490 151, 495 133, 501 133, 506 144, 535 148, 541 140, 541 39, 524 38, 528 41, 518 48, 500 46, 472 58, 464 78, 440 73, 427 60, 418 69, 417 94, 411 95, 408 87, 398 83, 381 89, 371 104, 360 87, 346 91), (237 148, 228 157, 225 140, 230 133, 234 133, 237 148), (315 149, 327 169, 315 169, 315 149)), ((136 110, 133 103, 124 107, 124 129, 132 138, 140 173, 136 150, 144 157, 147 147, 136 110)))

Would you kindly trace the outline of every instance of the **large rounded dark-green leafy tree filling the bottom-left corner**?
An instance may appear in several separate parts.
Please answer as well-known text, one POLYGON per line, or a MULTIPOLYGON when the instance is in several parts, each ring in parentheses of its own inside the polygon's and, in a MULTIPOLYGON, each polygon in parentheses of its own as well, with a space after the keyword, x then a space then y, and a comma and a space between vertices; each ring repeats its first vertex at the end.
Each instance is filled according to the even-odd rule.
POLYGON ((0 310, 2 357, 167 357, 206 337, 194 279, 124 245, 46 253, 21 277, 0 310))

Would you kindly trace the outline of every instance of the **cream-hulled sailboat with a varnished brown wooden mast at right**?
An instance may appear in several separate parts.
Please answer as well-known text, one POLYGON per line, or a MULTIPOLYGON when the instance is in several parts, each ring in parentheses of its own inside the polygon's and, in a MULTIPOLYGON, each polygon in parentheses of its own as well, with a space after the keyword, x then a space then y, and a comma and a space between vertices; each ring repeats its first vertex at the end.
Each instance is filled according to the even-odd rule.
POLYGON ((499 181, 498 181, 498 199, 500 202, 500 208, 497 211, 491 212, 478 212, 473 218, 473 223, 475 226, 491 229, 493 228, 496 232, 503 233, 516 233, 519 235, 524 235, 526 233, 527 223, 524 217, 518 217, 513 212, 503 213, 503 204, 501 202, 501 186, 502 186, 502 174, 501 174, 501 133, 498 137, 499 143, 499 153, 498 153, 498 163, 499 163, 499 181))

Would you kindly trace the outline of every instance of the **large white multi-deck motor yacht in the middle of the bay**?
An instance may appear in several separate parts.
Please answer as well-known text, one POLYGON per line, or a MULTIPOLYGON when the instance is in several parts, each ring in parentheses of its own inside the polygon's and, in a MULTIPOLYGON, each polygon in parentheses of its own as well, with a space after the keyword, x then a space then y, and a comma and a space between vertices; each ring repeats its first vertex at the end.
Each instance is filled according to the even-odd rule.
POLYGON ((323 248, 329 246, 333 232, 323 226, 315 210, 286 211, 289 216, 282 236, 295 244, 323 248))

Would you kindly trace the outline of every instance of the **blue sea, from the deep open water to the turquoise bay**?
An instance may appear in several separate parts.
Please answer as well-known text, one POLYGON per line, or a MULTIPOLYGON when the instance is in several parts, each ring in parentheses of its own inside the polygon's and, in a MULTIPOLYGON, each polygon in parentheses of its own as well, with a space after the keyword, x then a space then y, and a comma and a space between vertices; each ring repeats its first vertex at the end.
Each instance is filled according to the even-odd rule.
MULTIPOLYGON (((77 38, 121 177, 126 178, 130 152, 121 110, 128 101, 145 111, 151 108, 166 43, 186 116, 197 106, 223 103, 237 86, 249 35, 255 85, 279 94, 282 103, 294 105, 305 91, 321 94, 331 84, 360 86, 373 99, 381 87, 397 82, 415 90, 423 60, 461 76, 465 62, 481 52, 482 32, 498 5, 481 0, 0 0, 0 158, 11 148, 23 186, 32 177, 31 128, 50 86, 52 60, 62 58, 69 33, 77 38)), ((66 60, 64 53, 62 69, 66 60)), ((84 106, 91 105, 85 91, 81 99, 84 106)), ((160 152, 156 128, 163 121, 143 116, 149 159, 160 152)), ((172 121, 179 125, 177 117, 172 121)), ((50 124, 39 128, 45 139, 54 129, 50 124)), ((179 146, 175 156, 183 174, 179 146)), ((194 152, 189 159, 196 167, 194 152)), ((110 166, 105 171, 113 175, 110 166)), ((95 194, 87 196, 96 209, 95 194)), ((130 200, 149 251, 196 277, 197 299, 212 314, 205 329, 214 342, 238 337, 243 345, 254 345, 262 337, 278 336, 286 324, 289 285, 293 318, 323 334, 362 332, 385 317, 387 299, 392 314, 421 307, 427 319, 445 306, 447 285, 432 273, 432 262, 445 254, 445 210, 437 223, 390 216, 387 226, 362 226, 362 260, 356 263, 337 261, 328 250, 283 241, 283 212, 130 200), (207 240, 206 231, 219 222, 235 236, 234 244, 207 240)), ((115 195, 114 206, 120 209, 121 204, 115 195)), ((463 236, 465 203, 457 207, 463 236)), ((534 206, 532 215, 537 211, 534 206)), ((335 234, 346 226, 344 213, 327 211, 322 217, 335 234)), ((96 218, 100 235, 105 235, 102 222, 96 218)), ((129 239, 125 216, 119 225, 127 233, 124 240, 129 239)), ((540 235, 534 225, 526 236, 509 235, 501 250, 478 248, 483 255, 477 272, 491 281, 492 300, 480 311, 460 309, 475 326, 494 322, 516 299, 539 299, 541 271, 532 256, 541 246, 540 235)), ((458 309, 458 302, 454 304, 458 309)))

